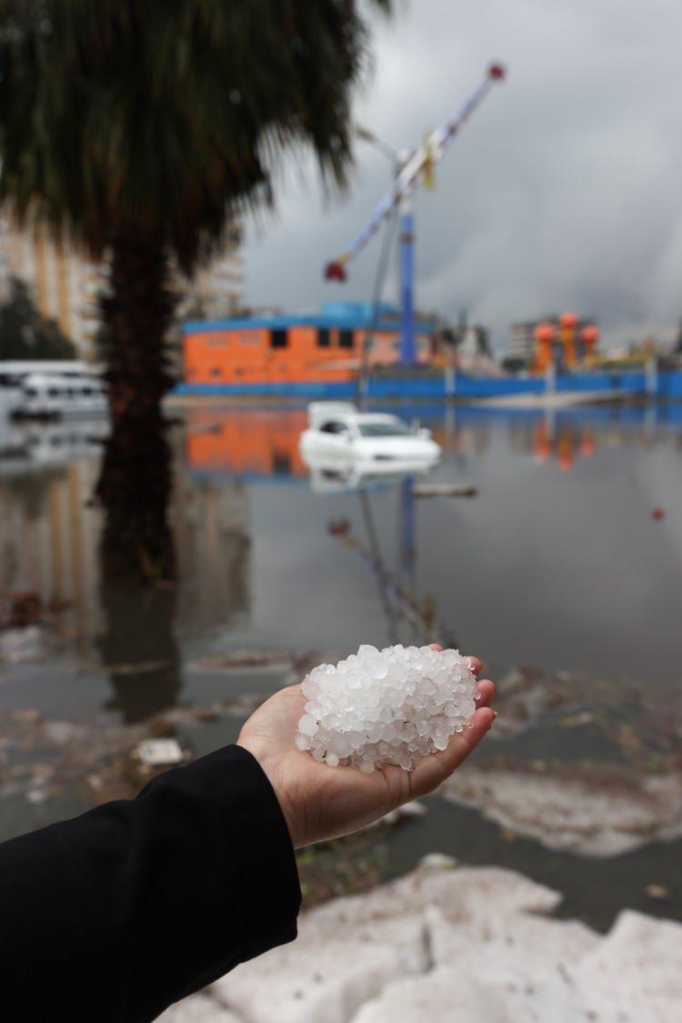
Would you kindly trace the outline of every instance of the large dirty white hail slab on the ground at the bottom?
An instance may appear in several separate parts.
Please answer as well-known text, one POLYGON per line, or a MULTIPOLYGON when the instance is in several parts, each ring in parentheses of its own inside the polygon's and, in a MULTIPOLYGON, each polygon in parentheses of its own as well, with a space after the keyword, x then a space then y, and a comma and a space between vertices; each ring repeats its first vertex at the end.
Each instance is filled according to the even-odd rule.
POLYGON ((606 935, 499 868, 417 871, 300 921, 212 988, 247 1023, 679 1023, 682 925, 625 910, 606 935))

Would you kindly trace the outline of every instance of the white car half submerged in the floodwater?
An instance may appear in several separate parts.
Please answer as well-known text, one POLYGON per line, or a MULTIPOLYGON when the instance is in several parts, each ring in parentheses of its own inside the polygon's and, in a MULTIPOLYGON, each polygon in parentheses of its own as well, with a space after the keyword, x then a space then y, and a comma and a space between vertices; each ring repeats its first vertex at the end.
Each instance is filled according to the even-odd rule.
POLYGON ((397 415, 359 412, 349 402, 320 401, 309 406, 308 420, 300 442, 307 460, 383 463, 400 472, 428 468, 441 457, 429 430, 412 428, 397 415))

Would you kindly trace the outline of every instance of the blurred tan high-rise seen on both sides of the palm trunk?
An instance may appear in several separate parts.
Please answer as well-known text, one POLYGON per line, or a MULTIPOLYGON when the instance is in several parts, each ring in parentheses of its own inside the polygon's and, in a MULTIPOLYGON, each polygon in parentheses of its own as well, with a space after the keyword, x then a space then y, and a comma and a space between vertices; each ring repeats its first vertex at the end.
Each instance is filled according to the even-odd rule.
MULTIPOLYGON (((223 252, 188 281, 180 274, 179 318, 187 315, 231 316, 243 300, 240 234, 234 228, 223 252)), ((55 319, 74 342, 79 357, 95 358, 99 329, 98 297, 105 287, 105 268, 84 258, 73 246, 55 244, 43 229, 19 229, 11 218, 0 218, 0 302, 9 297, 11 277, 31 290, 39 312, 55 319)))

